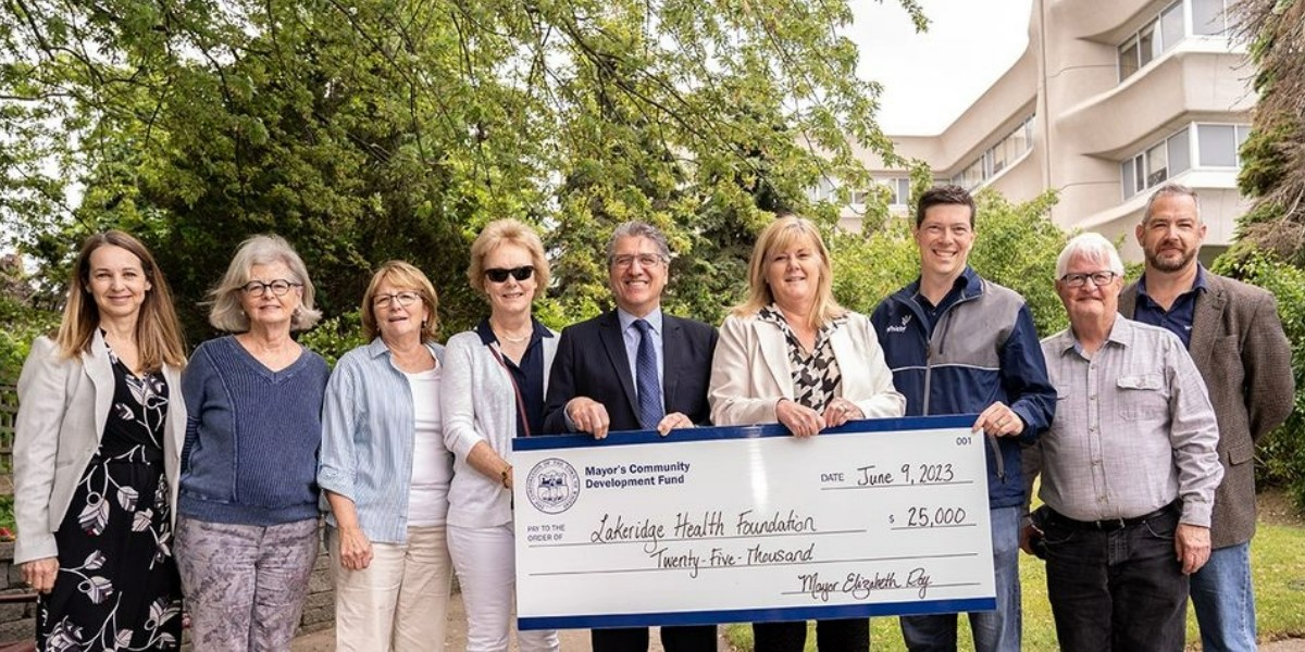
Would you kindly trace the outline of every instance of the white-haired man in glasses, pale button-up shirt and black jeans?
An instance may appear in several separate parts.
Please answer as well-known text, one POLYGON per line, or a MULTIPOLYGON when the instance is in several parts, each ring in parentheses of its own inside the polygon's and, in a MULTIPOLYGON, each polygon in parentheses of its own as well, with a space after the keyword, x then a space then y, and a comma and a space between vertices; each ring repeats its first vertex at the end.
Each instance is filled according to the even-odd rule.
POLYGON ((1122 286, 1098 233, 1056 262, 1070 327, 1041 343, 1057 400, 1034 520, 1061 649, 1180 652, 1188 576, 1210 556, 1219 432, 1182 343, 1118 316, 1122 286))

